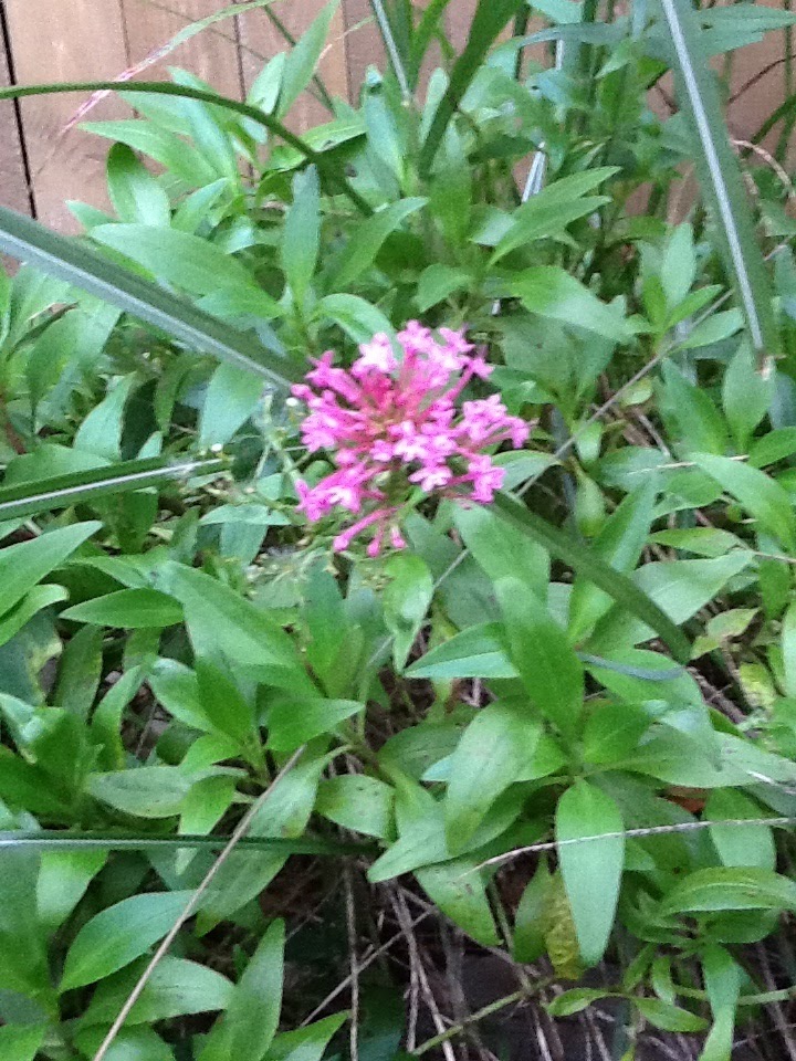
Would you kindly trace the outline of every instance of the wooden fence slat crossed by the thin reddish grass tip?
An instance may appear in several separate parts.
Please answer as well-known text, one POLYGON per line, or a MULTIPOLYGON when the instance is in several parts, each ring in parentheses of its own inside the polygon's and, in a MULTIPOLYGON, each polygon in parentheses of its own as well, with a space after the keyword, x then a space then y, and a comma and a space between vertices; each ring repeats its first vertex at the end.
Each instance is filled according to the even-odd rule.
MULTIPOLYGON (((143 62, 186 25, 214 14, 223 0, 122 0, 130 65, 143 62)), ((143 77, 166 77, 169 66, 181 66, 207 81, 222 96, 240 99, 242 81, 237 19, 223 19, 180 44, 143 77)))

